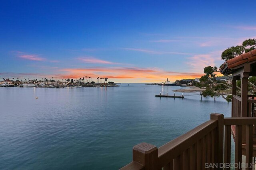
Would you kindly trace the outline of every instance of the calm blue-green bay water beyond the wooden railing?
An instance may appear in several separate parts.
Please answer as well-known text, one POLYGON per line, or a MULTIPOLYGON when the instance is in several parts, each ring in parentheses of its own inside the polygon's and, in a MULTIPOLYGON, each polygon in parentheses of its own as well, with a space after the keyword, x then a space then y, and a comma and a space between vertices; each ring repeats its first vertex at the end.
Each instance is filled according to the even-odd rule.
POLYGON ((160 147, 210 113, 230 117, 222 98, 154 97, 178 88, 0 88, 0 169, 118 169, 138 143, 160 147))

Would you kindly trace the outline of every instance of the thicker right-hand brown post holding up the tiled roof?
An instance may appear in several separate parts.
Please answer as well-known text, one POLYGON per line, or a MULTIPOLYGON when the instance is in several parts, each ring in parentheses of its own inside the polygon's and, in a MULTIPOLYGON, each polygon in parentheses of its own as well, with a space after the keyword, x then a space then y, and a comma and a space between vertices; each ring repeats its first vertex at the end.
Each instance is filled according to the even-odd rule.
POLYGON ((241 117, 247 117, 248 113, 248 77, 249 74, 246 72, 241 74, 241 117))

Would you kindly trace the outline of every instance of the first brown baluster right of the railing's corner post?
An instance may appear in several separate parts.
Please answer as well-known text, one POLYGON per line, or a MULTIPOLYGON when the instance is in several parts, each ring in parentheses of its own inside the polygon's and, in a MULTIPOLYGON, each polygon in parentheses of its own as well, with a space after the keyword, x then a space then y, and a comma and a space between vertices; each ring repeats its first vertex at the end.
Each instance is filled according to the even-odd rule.
MULTIPOLYGON (((231 152, 231 126, 225 126, 224 163, 230 163, 231 152)), ((230 168, 225 168, 226 170, 230 168)))

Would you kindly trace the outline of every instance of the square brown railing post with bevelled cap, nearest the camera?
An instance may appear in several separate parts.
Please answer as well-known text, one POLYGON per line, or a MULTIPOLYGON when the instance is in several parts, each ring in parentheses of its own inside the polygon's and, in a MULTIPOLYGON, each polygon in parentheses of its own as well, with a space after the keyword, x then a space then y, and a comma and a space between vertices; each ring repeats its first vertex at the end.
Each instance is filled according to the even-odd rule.
POLYGON ((155 145, 140 143, 132 148, 132 159, 144 166, 144 170, 157 170, 158 149, 155 145))

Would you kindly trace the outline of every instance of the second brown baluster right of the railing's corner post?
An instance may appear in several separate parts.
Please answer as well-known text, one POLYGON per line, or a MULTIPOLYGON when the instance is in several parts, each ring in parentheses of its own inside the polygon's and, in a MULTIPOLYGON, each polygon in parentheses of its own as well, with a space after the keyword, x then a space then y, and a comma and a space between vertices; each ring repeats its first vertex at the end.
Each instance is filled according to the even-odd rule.
MULTIPOLYGON (((235 138, 235 162, 242 163, 242 125, 236 125, 236 138, 235 138)), ((236 170, 241 168, 236 168, 236 170)))

